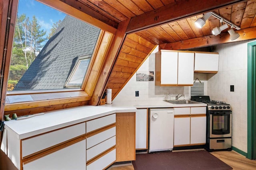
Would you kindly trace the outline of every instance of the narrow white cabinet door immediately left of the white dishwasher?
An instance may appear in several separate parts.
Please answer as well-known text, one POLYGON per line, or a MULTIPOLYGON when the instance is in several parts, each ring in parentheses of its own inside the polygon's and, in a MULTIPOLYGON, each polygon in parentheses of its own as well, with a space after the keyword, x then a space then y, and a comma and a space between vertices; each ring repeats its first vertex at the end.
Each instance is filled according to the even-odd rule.
POLYGON ((136 149, 147 148, 147 109, 136 110, 136 149))

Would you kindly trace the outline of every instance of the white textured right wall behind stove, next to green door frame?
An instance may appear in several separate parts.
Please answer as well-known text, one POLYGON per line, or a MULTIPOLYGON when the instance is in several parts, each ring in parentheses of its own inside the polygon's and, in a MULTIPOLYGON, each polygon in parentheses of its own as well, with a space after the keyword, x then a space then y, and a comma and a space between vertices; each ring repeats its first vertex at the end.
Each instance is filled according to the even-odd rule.
POLYGON ((232 107, 232 146, 247 152, 247 43, 218 45, 219 71, 208 74, 207 94, 232 107), (230 92, 234 85, 234 92, 230 92))

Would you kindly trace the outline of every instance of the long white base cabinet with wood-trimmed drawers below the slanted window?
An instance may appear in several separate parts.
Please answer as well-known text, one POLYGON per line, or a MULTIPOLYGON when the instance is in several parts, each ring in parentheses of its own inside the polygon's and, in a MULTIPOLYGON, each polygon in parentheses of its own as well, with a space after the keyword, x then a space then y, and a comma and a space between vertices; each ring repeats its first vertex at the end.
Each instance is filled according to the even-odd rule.
POLYGON ((116 114, 24 139, 6 129, 10 141, 1 147, 18 170, 94 170, 116 162, 116 114))

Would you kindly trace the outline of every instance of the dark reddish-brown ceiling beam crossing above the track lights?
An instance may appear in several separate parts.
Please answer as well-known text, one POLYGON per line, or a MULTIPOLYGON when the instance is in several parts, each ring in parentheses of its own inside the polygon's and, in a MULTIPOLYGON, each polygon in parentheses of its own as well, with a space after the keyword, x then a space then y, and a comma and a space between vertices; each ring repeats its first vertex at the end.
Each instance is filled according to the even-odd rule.
POLYGON ((244 1, 247 0, 177 0, 156 10, 131 18, 126 33, 134 33, 172 21, 182 20, 244 1))

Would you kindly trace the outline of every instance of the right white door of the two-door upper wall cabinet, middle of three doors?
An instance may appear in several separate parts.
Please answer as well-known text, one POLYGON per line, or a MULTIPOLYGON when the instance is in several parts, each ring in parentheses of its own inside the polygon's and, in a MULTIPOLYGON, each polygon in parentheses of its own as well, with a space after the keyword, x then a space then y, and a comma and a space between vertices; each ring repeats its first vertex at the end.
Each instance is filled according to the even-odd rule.
POLYGON ((178 53, 178 85, 193 85, 194 53, 178 53))

